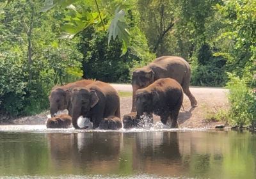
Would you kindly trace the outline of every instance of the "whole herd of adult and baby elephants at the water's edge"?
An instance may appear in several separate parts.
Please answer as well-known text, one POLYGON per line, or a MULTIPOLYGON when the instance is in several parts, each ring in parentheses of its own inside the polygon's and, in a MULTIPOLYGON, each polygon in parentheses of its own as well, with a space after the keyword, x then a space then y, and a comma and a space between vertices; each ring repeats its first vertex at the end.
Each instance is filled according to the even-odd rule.
POLYGON ((79 116, 89 118, 93 128, 116 130, 138 127, 141 116, 152 118, 160 116, 163 124, 170 123, 175 128, 185 93, 191 107, 197 101, 189 91, 191 68, 189 63, 177 56, 162 56, 132 74, 132 109, 121 120, 120 97, 108 83, 102 81, 81 80, 52 88, 50 101, 51 117, 47 128, 67 128, 71 123, 79 127, 79 116), (68 110, 68 114, 56 113, 68 110))

